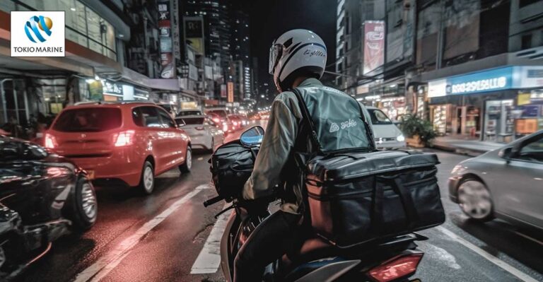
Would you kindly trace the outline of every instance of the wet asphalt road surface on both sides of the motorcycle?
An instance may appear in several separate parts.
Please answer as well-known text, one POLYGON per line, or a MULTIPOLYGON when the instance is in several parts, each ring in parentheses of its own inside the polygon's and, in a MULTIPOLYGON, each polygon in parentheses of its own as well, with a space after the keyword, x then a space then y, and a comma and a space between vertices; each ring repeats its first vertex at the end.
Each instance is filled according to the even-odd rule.
MULTIPOLYGON (((543 233, 503 221, 469 221, 448 199, 446 185, 452 167, 467 157, 437 153, 448 218, 444 225, 421 232, 430 240, 419 244, 426 254, 416 277, 422 281, 543 281, 543 233)), ((125 187, 100 187, 94 228, 54 242, 49 254, 17 280, 224 281, 219 269, 190 274, 214 228, 214 215, 223 208, 223 203, 202 205, 215 196, 209 185, 209 156, 194 155, 189 174, 170 170, 158 177, 151 196, 125 187)))

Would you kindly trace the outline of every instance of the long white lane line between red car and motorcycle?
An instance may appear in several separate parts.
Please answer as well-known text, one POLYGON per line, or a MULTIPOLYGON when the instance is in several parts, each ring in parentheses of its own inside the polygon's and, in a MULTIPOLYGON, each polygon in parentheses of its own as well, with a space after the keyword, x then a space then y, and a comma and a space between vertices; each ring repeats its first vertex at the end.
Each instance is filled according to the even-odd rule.
POLYGON ((98 261, 96 261, 94 264, 81 271, 76 276, 75 282, 100 281, 100 279, 107 276, 110 271, 115 269, 115 266, 122 262, 122 259, 129 254, 130 250, 141 240, 142 237, 153 230, 156 225, 168 218, 168 216, 176 211, 177 208, 180 208, 189 199, 196 196, 196 194, 202 191, 202 189, 209 189, 209 184, 203 184, 196 187, 192 192, 189 192, 189 194, 186 194, 181 199, 175 201, 162 213, 151 219, 151 221, 146 222, 143 226, 141 226, 141 228, 136 230, 134 234, 130 235, 130 237, 127 237, 119 245, 117 245, 117 247, 111 249, 110 252, 107 252, 103 257, 100 257, 100 259, 98 259, 98 261))

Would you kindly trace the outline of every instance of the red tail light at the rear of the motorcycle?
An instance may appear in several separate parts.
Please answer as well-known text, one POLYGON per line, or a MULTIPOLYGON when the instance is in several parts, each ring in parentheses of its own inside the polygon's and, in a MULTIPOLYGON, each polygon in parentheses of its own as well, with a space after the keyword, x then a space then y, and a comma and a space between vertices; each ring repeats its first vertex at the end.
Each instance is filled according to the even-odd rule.
POLYGON ((388 282, 414 274, 422 259, 422 253, 395 257, 370 269, 366 274, 378 282, 388 282))

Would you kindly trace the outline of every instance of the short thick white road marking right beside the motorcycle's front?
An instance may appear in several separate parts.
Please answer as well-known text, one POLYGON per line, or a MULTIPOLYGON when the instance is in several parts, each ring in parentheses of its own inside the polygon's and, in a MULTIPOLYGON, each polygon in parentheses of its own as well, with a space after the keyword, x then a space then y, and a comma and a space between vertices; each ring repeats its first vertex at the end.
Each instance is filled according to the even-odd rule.
MULTIPOLYGON (((224 207, 228 207, 230 204, 225 204, 224 207)), ((190 274, 214 274, 217 272, 218 266, 221 265, 221 237, 226 229, 226 223, 230 212, 221 214, 217 218, 209 237, 198 254, 196 261, 192 264, 190 274)))

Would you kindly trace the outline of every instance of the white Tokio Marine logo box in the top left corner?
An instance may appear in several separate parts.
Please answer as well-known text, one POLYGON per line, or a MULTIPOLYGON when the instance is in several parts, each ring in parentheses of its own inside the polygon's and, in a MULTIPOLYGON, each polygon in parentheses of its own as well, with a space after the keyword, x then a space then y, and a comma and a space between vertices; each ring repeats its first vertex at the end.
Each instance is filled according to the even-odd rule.
POLYGON ((64 11, 11 11, 10 15, 11 57, 66 56, 64 11))

